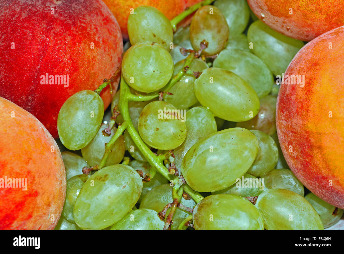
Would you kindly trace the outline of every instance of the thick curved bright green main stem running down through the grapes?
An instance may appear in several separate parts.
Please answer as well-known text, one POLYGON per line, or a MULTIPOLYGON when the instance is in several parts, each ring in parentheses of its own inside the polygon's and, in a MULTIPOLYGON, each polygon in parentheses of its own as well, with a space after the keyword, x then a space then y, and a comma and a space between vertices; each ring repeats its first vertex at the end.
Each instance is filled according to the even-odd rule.
MULTIPOLYGON (((193 58, 191 58, 191 59, 193 59, 193 58)), ((134 143, 137 146, 137 148, 141 151, 142 155, 146 158, 148 163, 156 171, 158 171, 160 174, 162 174, 162 176, 167 178, 170 182, 177 183, 179 181, 179 178, 177 176, 175 176, 174 174, 170 174, 168 169, 163 164, 163 161, 165 159, 165 155, 159 155, 159 156, 155 155, 146 146, 146 144, 143 142, 143 140, 141 139, 140 135, 138 134, 137 130, 133 126, 131 118, 130 118, 130 115, 129 115, 129 108, 128 108, 128 102, 129 102, 129 100, 132 100, 133 96, 134 95, 131 94, 128 84, 124 80, 123 76, 121 76, 121 89, 120 89, 120 97, 119 97, 118 107, 119 107, 119 112, 121 113, 122 118, 123 118, 123 123, 122 123, 122 125, 118 126, 118 129, 121 128, 121 126, 123 126, 123 124, 125 124, 126 125, 126 129, 127 129, 128 133, 129 133, 129 135, 131 136, 131 138, 134 141, 134 143)), ((147 95, 144 95, 144 96, 147 96, 147 95)), ((157 93, 157 96, 159 96, 159 93, 157 93)), ((150 99, 152 99, 152 98, 150 98, 150 99)), ((118 132, 118 129, 116 131, 116 134, 118 132)), ((116 134, 115 134, 115 136, 116 136, 116 134)), ((195 191, 192 188, 190 188, 190 186, 188 186, 187 184, 184 184, 184 191, 187 194, 189 194, 190 197, 193 200, 195 200, 196 203, 200 202, 203 199, 203 197, 202 197, 202 195, 200 193, 198 193, 197 191, 195 191)))

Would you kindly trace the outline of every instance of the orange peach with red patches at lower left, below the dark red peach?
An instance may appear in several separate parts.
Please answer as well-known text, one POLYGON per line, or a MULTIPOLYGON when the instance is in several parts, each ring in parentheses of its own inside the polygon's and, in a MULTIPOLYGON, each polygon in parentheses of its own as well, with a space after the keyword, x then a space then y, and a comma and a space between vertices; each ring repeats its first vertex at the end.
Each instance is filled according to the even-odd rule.
POLYGON ((27 189, 0 188, 0 230, 53 230, 66 195, 60 150, 39 120, 0 97, 0 178, 5 176, 27 178, 27 189))

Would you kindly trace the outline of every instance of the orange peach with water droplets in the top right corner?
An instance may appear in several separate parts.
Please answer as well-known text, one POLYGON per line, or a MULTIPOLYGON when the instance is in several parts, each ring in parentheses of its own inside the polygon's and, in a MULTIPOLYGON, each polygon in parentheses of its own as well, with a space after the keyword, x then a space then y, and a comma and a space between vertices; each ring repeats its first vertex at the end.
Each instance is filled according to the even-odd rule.
POLYGON ((343 3, 338 0, 248 0, 251 10, 273 30, 311 41, 344 25, 343 3), (290 8, 292 14, 289 14, 290 8))

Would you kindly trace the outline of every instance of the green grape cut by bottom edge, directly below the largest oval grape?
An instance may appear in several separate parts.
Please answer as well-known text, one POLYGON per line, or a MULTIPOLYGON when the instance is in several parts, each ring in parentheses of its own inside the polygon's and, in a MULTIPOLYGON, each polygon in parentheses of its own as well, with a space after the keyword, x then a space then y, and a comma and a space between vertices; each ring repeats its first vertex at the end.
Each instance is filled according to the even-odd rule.
POLYGON ((195 230, 263 230, 257 208, 234 194, 210 195, 197 203, 192 214, 195 230))

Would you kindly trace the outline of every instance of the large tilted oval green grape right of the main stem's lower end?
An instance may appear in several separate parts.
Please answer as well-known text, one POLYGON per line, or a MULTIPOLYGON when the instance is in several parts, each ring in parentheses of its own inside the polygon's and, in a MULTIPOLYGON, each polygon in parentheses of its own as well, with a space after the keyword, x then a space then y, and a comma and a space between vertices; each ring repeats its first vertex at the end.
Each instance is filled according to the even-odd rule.
POLYGON ((223 190, 247 172, 258 148, 258 140, 249 130, 231 128, 218 131, 189 149, 182 161, 183 177, 196 191, 223 190))

